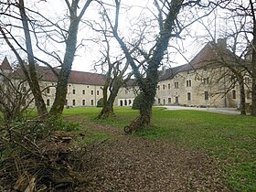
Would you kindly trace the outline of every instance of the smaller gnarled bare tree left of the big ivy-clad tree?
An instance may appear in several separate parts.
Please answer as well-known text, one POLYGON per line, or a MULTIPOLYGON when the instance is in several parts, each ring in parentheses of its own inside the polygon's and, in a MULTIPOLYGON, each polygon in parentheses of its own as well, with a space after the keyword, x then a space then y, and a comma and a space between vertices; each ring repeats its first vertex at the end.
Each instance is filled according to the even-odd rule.
MULTIPOLYGON (((104 8, 104 7, 103 7, 104 8)), ((87 22, 92 30, 98 32, 99 37, 97 44, 101 47, 101 59, 95 63, 94 69, 100 68, 105 73, 106 80, 102 88, 102 99, 103 105, 99 118, 107 118, 114 116, 113 103, 118 94, 118 91, 124 84, 131 79, 133 72, 128 72, 129 62, 123 57, 123 54, 115 48, 112 51, 112 34, 110 33, 111 28, 108 26, 108 21, 105 19, 106 10, 101 13, 101 22, 96 21, 87 22), (119 54, 120 53, 120 54, 119 54), (113 55, 114 54, 114 55, 113 55), (106 69, 106 72, 105 72, 106 69)), ((134 51, 134 49, 132 50, 134 51)))

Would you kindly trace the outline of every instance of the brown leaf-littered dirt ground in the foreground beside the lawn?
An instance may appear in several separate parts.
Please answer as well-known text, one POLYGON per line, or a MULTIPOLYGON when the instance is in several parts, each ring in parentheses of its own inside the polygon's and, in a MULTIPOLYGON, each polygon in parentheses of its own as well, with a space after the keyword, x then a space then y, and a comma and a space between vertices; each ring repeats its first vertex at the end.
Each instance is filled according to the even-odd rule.
POLYGON ((84 122, 82 127, 113 135, 91 151, 86 191, 229 191, 219 161, 206 153, 111 126, 84 122))

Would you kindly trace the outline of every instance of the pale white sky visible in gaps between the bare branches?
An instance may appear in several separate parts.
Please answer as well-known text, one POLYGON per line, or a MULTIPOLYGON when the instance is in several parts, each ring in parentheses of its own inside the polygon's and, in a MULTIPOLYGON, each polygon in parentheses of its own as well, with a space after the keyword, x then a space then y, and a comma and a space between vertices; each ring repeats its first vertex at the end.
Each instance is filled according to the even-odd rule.
MULTIPOLYGON (((112 0, 110 0, 112 1, 112 0)), ((28 1, 28 4, 33 4, 33 1, 28 1)), ((48 0, 47 2, 40 2, 38 0, 35 0, 35 5, 38 7, 38 10, 40 10, 40 12, 42 12, 43 14, 47 13, 47 16, 51 16, 52 19, 57 19, 59 18, 59 16, 64 16, 66 14, 66 7, 64 5, 64 0, 48 0)), ((128 33, 128 28, 131 27, 129 26, 129 22, 128 18, 137 18, 142 16, 142 12, 143 12, 143 8, 144 7, 150 7, 152 6, 152 0, 123 0, 122 1, 123 5, 133 5, 133 8, 131 10, 129 10, 129 12, 127 13, 127 15, 124 13, 121 16, 120 19, 120 29, 124 34, 125 37, 125 33, 127 31, 128 33), (126 17, 127 16, 127 17, 126 17)), ((95 5, 90 5, 90 8, 86 11, 85 15, 83 16, 84 19, 86 18, 98 18, 99 14, 98 14, 99 10, 95 10, 95 5)), ((204 22, 208 23, 207 20, 205 20, 204 22)), ((208 26, 212 27, 212 23, 211 24, 207 24, 208 26)), ((218 27, 220 27, 221 23, 217 24, 218 27)), ((90 37, 95 37, 98 36, 95 32, 92 32, 90 29, 88 29, 88 27, 84 27, 83 24, 80 24, 80 27, 82 27, 80 29, 79 32, 79 40, 78 43, 80 43, 80 40, 82 38, 90 38, 90 37)), ((130 32, 130 34, 133 32, 130 32)), ((186 56, 186 58, 188 60, 192 59, 197 52, 199 51, 200 48, 202 48, 202 45, 204 45, 206 42, 208 42, 208 40, 210 38, 208 38, 207 36, 205 37, 205 30, 203 29, 202 26, 200 25, 194 25, 192 27, 192 31, 190 32, 190 35, 192 37, 183 37, 183 41, 181 40, 173 40, 171 43, 172 45, 175 43, 178 43, 179 46, 183 45, 182 48, 184 48, 184 55, 186 56), (194 38, 193 38, 194 37, 194 38), (195 40, 195 37, 200 37, 199 39, 195 40)), ((129 35, 128 35, 129 37, 129 35)), ((218 37, 218 35, 217 35, 218 37)), ((126 37, 125 37, 126 38, 126 37)), ((102 48, 99 46, 96 46, 95 44, 92 44, 90 41, 83 41, 83 44, 85 45, 85 47, 82 47, 79 49, 79 51, 77 52, 77 56, 74 59, 73 62, 73 67, 72 69, 74 70, 80 70, 80 71, 92 71, 91 69, 93 69, 92 64, 94 61, 96 61, 97 59, 99 59, 99 57, 101 56, 100 51, 102 51, 102 48)), ((117 46, 117 45, 115 45, 117 46)), ((64 51, 65 49, 65 45, 51 45, 48 48, 52 48, 53 50, 60 50, 60 51, 64 51)), ((3 46, 1 46, 1 55, 0 57, 2 59, 4 59, 5 55, 8 54, 9 52, 5 52, 3 51, 5 48, 3 46)), ((174 49, 171 49, 171 51, 174 51, 174 49)), ((36 52, 37 54, 37 52, 36 52)), ((40 56, 40 55, 39 55, 40 56)), ((0 58, 0 59, 1 59, 0 58)), ((62 59, 63 57, 61 57, 62 59)), ((8 57, 9 59, 9 57, 8 57)), ((175 67, 177 65, 182 65, 187 63, 187 60, 184 59, 182 56, 180 56, 179 54, 172 54, 171 60, 174 61, 175 63, 172 63, 171 66, 175 67)), ((51 60, 49 60, 51 61, 51 60)), ((100 71, 98 71, 100 72, 100 71)))

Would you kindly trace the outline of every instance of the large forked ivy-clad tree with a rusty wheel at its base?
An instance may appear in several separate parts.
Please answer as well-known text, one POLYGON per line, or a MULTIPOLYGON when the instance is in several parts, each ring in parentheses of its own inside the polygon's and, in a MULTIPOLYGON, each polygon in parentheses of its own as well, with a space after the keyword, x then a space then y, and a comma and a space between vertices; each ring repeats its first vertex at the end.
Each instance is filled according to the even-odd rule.
MULTIPOLYGON (((197 20, 196 18, 195 20, 190 20, 189 24, 185 24, 184 20, 182 21, 182 19, 180 19, 181 17, 179 16, 179 13, 181 10, 199 5, 198 1, 183 0, 154 1, 154 3, 156 14, 154 11, 151 13, 154 14, 157 20, 155 24, 154 22, 152 23, 152 20, 149 21, 151 23, 148 26, 152 26, 153 24, 154 26, 157 26, 158 24, 158 28, 151 28, 151 30, 157 31, 157 33, 155 34, 155 39, 151 41, 151 45, 153 46, 150 48, 144 48, 142 44, 139 44, 141 46, 138 46, 137 44, 132 45, 125 41, 124 37, 120 36, 118 27, 121 2, 119 0, 115 0, 116 9, 113 22, 111 16, 106 14, 106 19, 112 28, 112 35, 123 49, 123 53, 133 69, 133 74, 143 95, 143 101, 140 106, 140 116, 136 118, 135 123, 133 123, 135 124, 134 126, 138 128, 146 127, 151 122, 152 106, 155 102, 158 81, 158 68, 160 67, 161 61, 169 46, 169 40, 171 38, 180 37, 181 32, 197 20), (131 54, 131 48, 136 48, 141 57, 135 59, 133 54, 131 54), (144 71, 143 73, 141 73, 142 69, 144 71)), ((210 4, 204 6, 208 7, 210 4)), ((211 11, 212 7, 208 14, 211 11)), ((150 44, 148 44, 148 46, 150 46, 150 44)))

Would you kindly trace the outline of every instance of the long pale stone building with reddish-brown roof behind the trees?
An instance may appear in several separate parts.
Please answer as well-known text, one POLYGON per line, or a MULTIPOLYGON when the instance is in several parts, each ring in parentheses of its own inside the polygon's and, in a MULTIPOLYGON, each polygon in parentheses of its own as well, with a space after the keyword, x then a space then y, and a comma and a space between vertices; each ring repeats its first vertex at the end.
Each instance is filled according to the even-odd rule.
MULTIPOLYGON (((237 62, 238 58, 226 48, 225 39, 219 39, 217 44, 208 42, 189 63, 159 71, 155 105, 236 107, 240 102, 240 88, 232 81, 232 72, 228 67, 239 67, 237 62)), ((0 69, 11 71, 10 65, 7 64, 5 58, 0 69)), ((56 70, 59 72, 59 69, 56 70)), ((15 73, 16 80, 23 79, 20 69, 16 69, 15 73)), ((37 73, 46 103, 51 106, 55 97, 57 77, 46 67, 37 66, 37 73)), ((96 106, 102 97, 101 88, 104 83, 105 76, 102 74, 72 70, 66 105, 96 106)), ((27 87, 26 84, 24 86, 27 87)), ((250 85, 247 87, 246 99, 250 103, 250 85)), ((115 105, 131 106, 138 92, 135 80, 128 81, 119 91, 115 105)))

